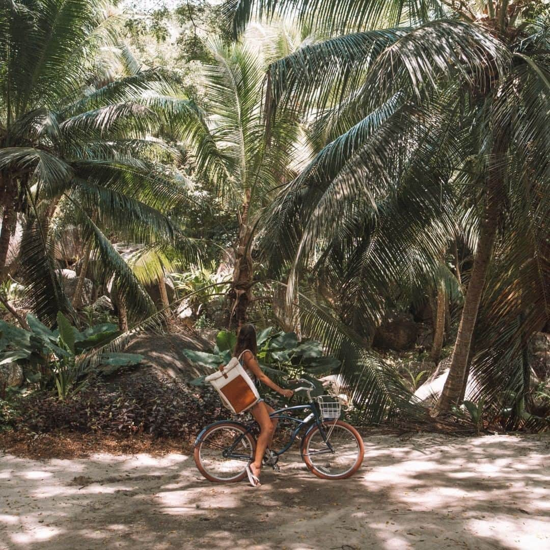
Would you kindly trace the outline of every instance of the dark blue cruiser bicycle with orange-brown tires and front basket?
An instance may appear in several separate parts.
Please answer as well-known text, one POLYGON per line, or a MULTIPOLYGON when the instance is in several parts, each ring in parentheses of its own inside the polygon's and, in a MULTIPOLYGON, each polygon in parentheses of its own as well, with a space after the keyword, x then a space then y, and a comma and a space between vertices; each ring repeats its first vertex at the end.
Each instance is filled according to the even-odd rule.
MULTIPOLYGON (((297 382, 309 384, 294 390, 294 393, 305 391, 308 403, 272 412, 272 418, 294 422, 296 427, 281 450, 270 450, 264 464, 278 469, 279 456, 290 449, 300 432, 306 430, 300 454, 307 469, 323 479, 340 480, 352 476, 361 466, 365 449, 359 432, 339 420, 342 401, 330 395, 312 398, 313 384, 303 378, 297 382), (288 414, 300 410, 309 411, 309 414, 303 419, 288 414)), ((246 465, 254 459, 256 450, 256 439, 251 433, 255 424, 255 421, 245 425, 221 420, 201 430, 195 440, 194 458, 197 469, 207 480, 237 482, 246 477, 246 465)))

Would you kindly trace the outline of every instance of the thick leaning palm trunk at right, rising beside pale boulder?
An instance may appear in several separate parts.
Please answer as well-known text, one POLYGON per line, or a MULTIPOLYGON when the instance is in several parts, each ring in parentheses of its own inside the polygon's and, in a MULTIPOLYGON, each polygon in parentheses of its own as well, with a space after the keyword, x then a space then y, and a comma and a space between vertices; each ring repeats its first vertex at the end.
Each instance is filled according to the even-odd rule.
POLYGON ((467 382, 465 377, 472 335, 474 334, 483 287, 485 287, 485 279, 489 263, 491 262, 500 207, 500 182, 489 179, 487 183, 488 189, 486 191, 485 207, 481 219, 480 237, 477 242, 474 266, 472 267, 470 283, 466 291, 449 375, 438 404, 439 412, 450 411, 453 405, 458 405, 460 396, 463 394, 463 388, 467 382))

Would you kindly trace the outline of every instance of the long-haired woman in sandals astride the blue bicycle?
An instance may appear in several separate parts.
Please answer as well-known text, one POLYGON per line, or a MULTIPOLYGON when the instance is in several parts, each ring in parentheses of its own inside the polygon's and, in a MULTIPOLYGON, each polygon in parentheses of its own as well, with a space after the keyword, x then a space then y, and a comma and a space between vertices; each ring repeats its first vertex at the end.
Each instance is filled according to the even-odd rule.
MULTIPOLYGON (((292 397, 294 395, 292 389, 283 389, 277 386, 275 382, 262 372, 256 360, 257 353, 256 329, 252 324, 244 324, 240 328, 237 336, 237 344, 235 345, 233 355, 239 357, 241 365, 243 365, 246 373, 252 380, 255 379, 256 382, 266 384, 268 388, 275 390, 277 393, 283 395, 283 397, 292 397)), ((223 365, 220 366, 220 369, 223 370, 223 365)), ((252 412, 252 416, 256 419, 256 422, 260 425, 260 435, 256 441, 254 461, 246 466, 246 473, 248 474, 250 485, 252 485, 252 487, 260 487, 262 459, 268 445, 272 442, 273 434, 277 427, 277 419, 270 418, 270 414, 274 412, 274 409, 263 399, 260 399, 250 411, 252 412)))

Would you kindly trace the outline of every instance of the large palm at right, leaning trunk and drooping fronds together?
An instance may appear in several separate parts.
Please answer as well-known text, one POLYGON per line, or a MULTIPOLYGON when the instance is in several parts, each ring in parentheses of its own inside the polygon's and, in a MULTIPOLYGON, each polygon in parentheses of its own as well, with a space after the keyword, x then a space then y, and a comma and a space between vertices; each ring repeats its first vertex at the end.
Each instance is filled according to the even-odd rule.
MULTIPOLYGON (((538 295, 520 286, 534 300, 524 307, 545 311, 548 318, 543 289, 549 273, 547 263, 538 260, 547 258, 548 243, 543 222, 550 181, 547 5, 235 0, 229 8, 237 30, 252 15, 271 16, 278 9, 300 21, 331 21, 335 31, 351 32, 301 48, 268 72, 268 118, 288 107, 303 108, 315 114, 326 136, 327 145, 277 205, 279 230, 294 244, 294 266, 326 235, 362 238, 370 224, 367 237, 377 232, 384 239, 386 205, 398 205, 400 198, 408 202, 395 216, 410 220, 406 227, 428 217, 409 236, 422 244, 421 261, 433 263, 441 245, 454 239, 447 194, 460 190, 476 205, 474 263, 439 403, 440 410, 449 410, 464 393, 487 274, 496 243, 504 238, 498 231, 502 223, 521 219, 533 235, 532 272, 518 283, 536 283, 538 295), (372 30, 382 24, 388 28, 372 30), (434 187, 441 190, 438 205, 434 187), (524 217, 506 216, 518 199, 524 217), (434 224, 443 232, 433 232, 434 224)), ((518 235, 517 227, 507 228, 508 234, 518 235)), ((391 259, 389 265, 395 265, 391 259)), ((384 263, 378 267, 388 271, 384 263)))

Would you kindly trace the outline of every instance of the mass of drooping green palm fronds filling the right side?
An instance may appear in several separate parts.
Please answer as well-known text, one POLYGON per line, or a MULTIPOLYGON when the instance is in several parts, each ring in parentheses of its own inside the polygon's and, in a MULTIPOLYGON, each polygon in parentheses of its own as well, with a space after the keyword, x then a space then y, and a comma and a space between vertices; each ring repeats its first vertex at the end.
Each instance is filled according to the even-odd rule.
MULTIPOLYGON (((458 241, 469 282, 493 205, 497 238, 470 357, 475 400, 497 404, 521 392, 522 349, 549 321, 550 21, 539 2, 486 4, 488 17, 475 2, 227 3, 235 31, 276 13, 333 31, 272 63, 266 79, 267 125, 298 110, 316 153, 265 221, 261 248, 274 272, 290 270, 289 298, 311 277, 368 342, 388 305, 442 280, 459 294, 442 259, 458 241)), ((345 363, 350 384, 356 366, 345 363)))

